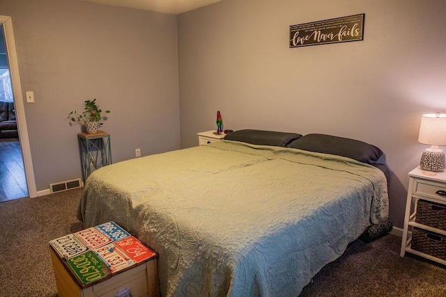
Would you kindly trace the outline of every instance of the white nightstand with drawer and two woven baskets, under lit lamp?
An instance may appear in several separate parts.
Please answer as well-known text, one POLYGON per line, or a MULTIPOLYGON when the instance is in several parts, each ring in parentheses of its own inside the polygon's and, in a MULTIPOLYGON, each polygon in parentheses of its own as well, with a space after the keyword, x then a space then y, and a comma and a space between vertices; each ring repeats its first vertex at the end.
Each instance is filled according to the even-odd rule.
POLYGON ((446 265, 446 172, 418 167, 409 178, 400 255, 410 252, 446 265))

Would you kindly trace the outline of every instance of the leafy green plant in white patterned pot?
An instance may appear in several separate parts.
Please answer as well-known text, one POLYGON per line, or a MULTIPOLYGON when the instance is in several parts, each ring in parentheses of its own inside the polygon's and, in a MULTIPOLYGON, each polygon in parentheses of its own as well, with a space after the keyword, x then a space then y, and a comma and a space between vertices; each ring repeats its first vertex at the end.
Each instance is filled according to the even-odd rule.
MULTIPOLYGON (((110 113, 110 111, 105 111, 105 114, 110 113)), ((98 133, 98 129, 102 126, 102 120, 107 120, 105 114, 102 114, 102 110, 96 105, 96 99, 86 100, 85 108, 82 113, 77 113, 77 111, 72 111, 68 114, 68 118, 72 122, 76 122, 80 125, 84 125, 86 133, 95 134, 98 133)))

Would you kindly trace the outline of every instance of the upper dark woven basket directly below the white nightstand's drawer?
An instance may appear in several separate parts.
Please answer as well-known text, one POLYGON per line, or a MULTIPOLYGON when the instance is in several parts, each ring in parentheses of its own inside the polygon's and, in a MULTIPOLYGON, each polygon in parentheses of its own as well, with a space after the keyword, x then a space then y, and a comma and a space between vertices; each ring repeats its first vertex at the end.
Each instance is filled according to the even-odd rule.
POLYGON ((415 222, 446 231, 446 205, 418 200, 415 222))

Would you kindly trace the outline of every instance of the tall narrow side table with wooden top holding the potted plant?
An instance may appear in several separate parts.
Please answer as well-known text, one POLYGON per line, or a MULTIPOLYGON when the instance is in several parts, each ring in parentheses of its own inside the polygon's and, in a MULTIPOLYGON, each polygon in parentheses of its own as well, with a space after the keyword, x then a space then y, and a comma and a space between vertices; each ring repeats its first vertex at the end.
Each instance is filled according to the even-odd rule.
POLYGON ((79 154, 81 156, 82 182, 91 175, 91 167, 98 169, 112 163, 110 134, 98 131, 95 134, 77 134, 79 154))

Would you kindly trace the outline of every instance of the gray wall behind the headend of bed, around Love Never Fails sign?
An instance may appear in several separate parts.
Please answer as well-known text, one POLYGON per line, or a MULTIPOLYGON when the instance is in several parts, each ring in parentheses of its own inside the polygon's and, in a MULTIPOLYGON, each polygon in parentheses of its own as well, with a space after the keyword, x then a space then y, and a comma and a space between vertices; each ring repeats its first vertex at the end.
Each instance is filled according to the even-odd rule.
MULTIPOLYGON (((402 227, 422 113, 446 112, 446 1, 223 0, 178 16, 182 147, 197 132, 269 129, 356 138, 391 170, 402 227), (289 26, 365 13, 364 40, 289 48, 289 26)), ((445 149, 445 147, 443 147, 445 149)))

